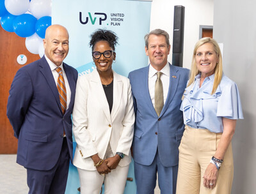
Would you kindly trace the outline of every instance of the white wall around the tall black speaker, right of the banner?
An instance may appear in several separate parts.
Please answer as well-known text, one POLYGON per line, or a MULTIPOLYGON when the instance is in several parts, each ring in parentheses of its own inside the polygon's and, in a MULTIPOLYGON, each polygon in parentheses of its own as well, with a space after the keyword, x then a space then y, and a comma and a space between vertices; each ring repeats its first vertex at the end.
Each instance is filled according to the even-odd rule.
MULTIPOLYGON (((213 25, 214 0, 152 1, 150 30, 160 28, 167 31, 170 35, 171 48, 173 39, 173 11, 175 5, 185 7, 183 67, 190 69, 193 48, 199 38, 199 26, 213 25)), ((172 63, 172 50, 168 56, 168 61, 172 63)))

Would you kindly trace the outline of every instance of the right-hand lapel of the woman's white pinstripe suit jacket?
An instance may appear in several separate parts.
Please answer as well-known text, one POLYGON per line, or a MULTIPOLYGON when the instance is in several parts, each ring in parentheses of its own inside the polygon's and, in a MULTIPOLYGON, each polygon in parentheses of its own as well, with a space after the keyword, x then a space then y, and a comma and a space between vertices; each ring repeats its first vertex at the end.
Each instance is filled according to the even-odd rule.
POLYGON ((118 75, 113 71, 113 77, 114 77, 114 86, 113 86, 113 107, 111 111, 111 118, 113 121, 113 118, 116 115, 116 112, 118 110, 118 107, 120 105, 122 93, 123 93, 123 82, 120 80, 118 75))

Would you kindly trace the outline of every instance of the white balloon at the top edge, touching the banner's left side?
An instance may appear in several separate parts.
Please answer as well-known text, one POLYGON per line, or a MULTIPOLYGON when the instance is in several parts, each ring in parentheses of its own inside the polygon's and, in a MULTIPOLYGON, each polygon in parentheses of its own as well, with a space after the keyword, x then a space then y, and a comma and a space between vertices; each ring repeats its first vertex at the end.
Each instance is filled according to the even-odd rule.
POLYGON ((51 0, 31 0, 29 10, 36 19, 52 15, 51 0))

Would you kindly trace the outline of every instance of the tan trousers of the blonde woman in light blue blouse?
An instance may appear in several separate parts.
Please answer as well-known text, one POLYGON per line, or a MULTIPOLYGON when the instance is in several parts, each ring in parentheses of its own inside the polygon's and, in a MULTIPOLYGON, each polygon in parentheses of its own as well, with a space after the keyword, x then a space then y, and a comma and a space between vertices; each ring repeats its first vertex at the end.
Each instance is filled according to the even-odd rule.
POLYGON ((177 194, 231 193, 234 175, 232 145, 228 146, 219 170, 216 186, 204 187, 204 172, 216 152, 222 133, 185 127, 179 147, 177 194))

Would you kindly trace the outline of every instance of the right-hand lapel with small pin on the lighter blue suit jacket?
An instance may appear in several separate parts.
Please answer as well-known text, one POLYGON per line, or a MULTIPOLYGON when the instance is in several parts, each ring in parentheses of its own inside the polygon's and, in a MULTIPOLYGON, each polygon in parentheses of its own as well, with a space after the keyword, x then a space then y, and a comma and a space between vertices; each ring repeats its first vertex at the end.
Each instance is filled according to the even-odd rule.
POLYGON ((170 63, 169 63, 169 65, 170 65, 170 84, 169 84, 169 89, 168 89, 168 96, 164 103, 164 107, 163 107, 163 110, 161 111, 160 116, 162 116, 164 114, 166 109, 169 107, 171 101, 173 100, 173 97, 176 93, 177 86, 179 83, 179 78, 180 78, 179 70, 177 70, 170 63))

